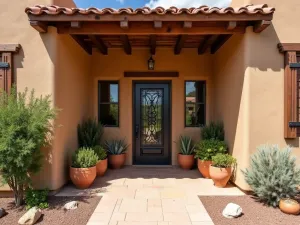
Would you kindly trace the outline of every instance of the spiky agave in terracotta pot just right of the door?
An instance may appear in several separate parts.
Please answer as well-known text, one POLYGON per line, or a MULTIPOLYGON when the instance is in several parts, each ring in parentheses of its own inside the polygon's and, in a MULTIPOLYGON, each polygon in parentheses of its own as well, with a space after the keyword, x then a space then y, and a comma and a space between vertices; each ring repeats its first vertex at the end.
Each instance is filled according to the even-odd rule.
POLYGON ((195 146, 192 138, 180 136, 179 153, 177 155, 178 164, 182 169, 190 170, 194 165, 194 149, 195 146))

